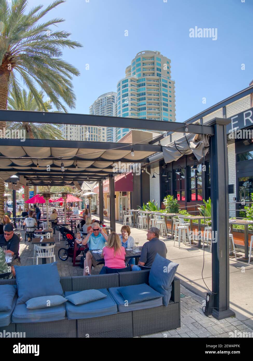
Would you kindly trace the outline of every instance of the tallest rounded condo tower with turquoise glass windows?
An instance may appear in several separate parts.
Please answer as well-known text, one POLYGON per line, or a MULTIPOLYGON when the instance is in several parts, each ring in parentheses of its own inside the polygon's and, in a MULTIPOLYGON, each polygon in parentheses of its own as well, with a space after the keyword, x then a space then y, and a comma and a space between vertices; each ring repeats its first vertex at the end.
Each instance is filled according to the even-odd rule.
MULTIPOLYGON (((117 84, 117 116, 175 122, 175 81, 170 59, 159 51, 141 51, 117 84)), ((129 128, 118 128, 118 141, 129 128)))

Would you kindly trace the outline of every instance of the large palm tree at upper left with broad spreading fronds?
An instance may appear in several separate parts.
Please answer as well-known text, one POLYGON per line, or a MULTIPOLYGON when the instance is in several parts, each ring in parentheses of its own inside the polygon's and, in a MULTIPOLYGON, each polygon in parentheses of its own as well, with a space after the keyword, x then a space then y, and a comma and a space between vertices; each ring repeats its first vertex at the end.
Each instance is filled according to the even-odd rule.
MULTIPOLYGON (((56 0, 42 9, 37 5, 27 13, 26 0, 0 0, 0 109, 7 109, 8 93, 12 91, 21 106, 22 96, 19 81, 23 81, 34 96, 35 102, 47 111, 40 88, 51 99, 58 111, 66 112, 75 106, 73 75, 79 71, 62 59, 62 48, 77 48, 82 45, 70 40, 70 33, 51 31, 51 26, 63 22, 54 18, 40 23, 40 20, 64 3, 56 0)), ((6 126, 0 122, 0 129, 6 126)), ((4 212, 4 182, 0 181, 0 218, 4 212), (3 184, 1 184, 3 183, 3 184)))

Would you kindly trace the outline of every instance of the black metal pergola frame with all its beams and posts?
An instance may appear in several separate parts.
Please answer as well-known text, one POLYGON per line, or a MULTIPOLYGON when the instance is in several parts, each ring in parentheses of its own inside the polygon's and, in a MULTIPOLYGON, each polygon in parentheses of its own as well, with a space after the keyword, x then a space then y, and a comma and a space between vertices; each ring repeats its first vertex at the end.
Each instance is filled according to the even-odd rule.
MULTIPOLYGON (((159 131, 174 131, 186 133, 186 124, 177 122, 163 122, 151 121, 147 119, 133 119, 133 118, 119 118, 119 117, 104 117, 93 116, 85 114, 62 114, 62 113, 43 113, 43 112, 22 112, 12 110, 0 110, 1 121, 15 121, 15 122, 33 122, 33 123, 53 123, 53 124, 76 124, 76 125, 91 125, 91 126, 110 126, 121 127, 129 129, 146 129, 159 131)), ((226 126, 231 119, 214 118, 205 125, 188 124, 188 133, 193 134, 207 134, 210 135, 210 160, 211 168, 215 172, 211 172, 211 199, 212 199, 212 231, 216 232, 215 242, 212 247, 212 292, 214 293, 214 308, 213 316, 217 319, 235 316, 235 313, 230 310, 229 303, 229 221, 228 221, 228 159, 227 159, 227 135, 226 126)), ((26 140, 25 146, 39 147, 43 146, 49 141, 45 140, 26 140), (29 145, 30 144, 30 145, 29 145)), ((52 144, 53 141, 50 141, 52 144)), ((54 141, 58 142, 58 141, 54 141)), ((62 142, 62 141, 60 141, 62 142)), ((64 141, 63 141, 64 142, 64 141)), ((64 144, 69 148, 73 148, 74 144, 82 143, 81 148, 87 142, 73 142, 66 141, 64 144)), ((117 147, 115 143, 92 143, 94 149, 101 149, 98 147, 106 147, 112 149, 117 147)), ((0 145, 20 146, 19 140, 0 139, 0 145), (19 142, 17 144, 17 142, 19 142)), ((122 143, 117 143, 118 147, 122 143)), ((22 144, 21 144, 22 145, 22 144)), ((24 144, 23 144, 24 145, 24 144)), ((52 145, 51 145, 52 146, 52 145)), ((147 147, 148 145, 134 145, 134 147, 147 147)), ((161 149, 160 145, 149 145, 161 149)), ((126 147, 131 147, 127 144, 126 147)), ((104 149, 104 148, 103 148, 104 149)), ((137 148, 135 148, 137 149, 137 148)), ((155 148, 154 148, 155 149, 155 148)), ((157 150, 158 152, 161 150, 157 150)), ((155 153, 155 152, 154 152, 155 153)), ((9 159, 9 157, 5 157, 9 159)), ((83 159, 82 159, 83 160, 83 159)), ((103 159, 104 161, 104 159, 103 159)), ((113 161, 113 160, 112 160, 113 161)), ((36 173, 36 170, 34 170, 36 173)), ((22 172, 19 171, 18 174, 22 172)), ((25 173, 25 172, 24 172, 25 173)), ((37 174, 39 174, 38 172, 37 174)), ((70 172, 71 173, 71 172, 70 172)), ((73 172, 73 175, 75 173, 73 172)), ((115 198, 114 198, 114 178, 113 174, 109 176, 110 189, 110 215, 111 227, 115 230, 115 198)), ((81 177, 81 173, 77 178, 81 177)), ((96 177, 93 177, 94 179, 96 177)), ((90 179, 89 179, 90 180, 90 179)), ((99 200, 100 212, 102 211, 102 181, 101 177, 97 177, 99 181, 99 200)), ((35 185, 38 185, 35 183, 35 185)), ((13 191, 14 193, 15 191, 13 191)), ((102 212, 101 212, 102 213, 102 212)), ((100 214, 103 217, 103 214, 100 214)))

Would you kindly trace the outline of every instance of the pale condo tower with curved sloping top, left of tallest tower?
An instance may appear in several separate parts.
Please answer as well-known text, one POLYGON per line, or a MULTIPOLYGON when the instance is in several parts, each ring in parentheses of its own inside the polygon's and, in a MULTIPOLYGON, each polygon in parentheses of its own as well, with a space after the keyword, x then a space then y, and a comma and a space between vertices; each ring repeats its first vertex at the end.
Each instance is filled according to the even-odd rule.
MULTIPOLYGON (((117 116, 117 93, 108 92, 100 95, 89 108, 93 115, 117 116)), ((93 140, 96 142, 115 142, 116 128, 113 127, 87 127, 81 126, 80 140, 93 140), (86 139, 83 139, 86 137, 86 139), (90 138, 90 139, 87 139, 90 138)))

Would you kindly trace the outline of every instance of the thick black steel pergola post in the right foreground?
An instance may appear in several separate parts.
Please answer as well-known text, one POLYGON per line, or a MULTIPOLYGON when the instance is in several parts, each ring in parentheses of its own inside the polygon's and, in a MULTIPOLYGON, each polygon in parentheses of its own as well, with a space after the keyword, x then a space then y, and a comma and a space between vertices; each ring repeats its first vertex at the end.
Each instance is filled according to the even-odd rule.
POLYGON ((215 118, 210 137, 211 218, 212 218, 212 292, 213 316, 223 319, 235 316, 229 304, 229 221, 228 221, 228 158, 227 131, 230 121, 215 118))

